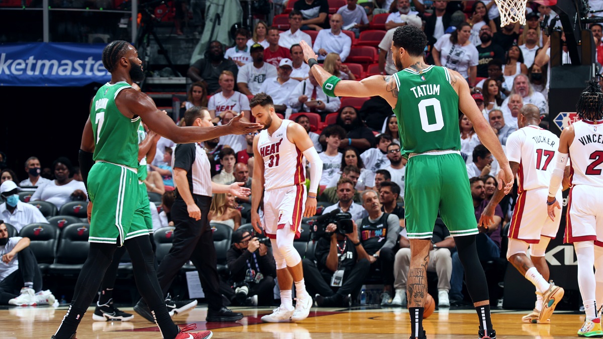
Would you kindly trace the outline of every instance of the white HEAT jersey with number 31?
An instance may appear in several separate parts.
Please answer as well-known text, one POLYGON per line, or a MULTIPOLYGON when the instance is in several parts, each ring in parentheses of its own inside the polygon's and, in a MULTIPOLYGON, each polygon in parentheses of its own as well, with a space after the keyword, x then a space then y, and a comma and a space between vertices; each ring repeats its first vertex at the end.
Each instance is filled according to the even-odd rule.
POLYGON ((287 138, 291 120, 283 120, 273 135, 260 131, 257 150, 264 159, 264 188, 282 188, 306 182, 305 159, 301 151, 287 138))

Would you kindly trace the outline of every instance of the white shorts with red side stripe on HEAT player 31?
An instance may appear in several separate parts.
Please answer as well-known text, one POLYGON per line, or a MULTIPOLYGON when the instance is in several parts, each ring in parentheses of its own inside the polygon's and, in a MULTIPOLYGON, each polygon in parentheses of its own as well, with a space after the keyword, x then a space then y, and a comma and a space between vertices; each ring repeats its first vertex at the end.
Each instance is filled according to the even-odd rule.
POLYGON ((301 234, 301 217, 305 208, 306 186, 295 185, 264 192, 264 232, 276 239, 276 230, 289 224, 295 239, 301 234))

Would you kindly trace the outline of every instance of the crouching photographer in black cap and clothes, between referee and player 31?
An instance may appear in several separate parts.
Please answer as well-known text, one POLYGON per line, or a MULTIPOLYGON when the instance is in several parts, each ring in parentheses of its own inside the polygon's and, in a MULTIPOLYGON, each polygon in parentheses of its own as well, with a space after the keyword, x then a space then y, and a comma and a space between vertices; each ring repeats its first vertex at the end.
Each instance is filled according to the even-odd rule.
MULTIPOLYGON (((265 238, 268 239, 268 238, 265 238)), ((232 235, 232 247, 226 253, 230 282, 236 288, 236 301, 241 305, 269 306, 274 302, 276 262, 265 242, 251 238, 248 230, 232 235)))

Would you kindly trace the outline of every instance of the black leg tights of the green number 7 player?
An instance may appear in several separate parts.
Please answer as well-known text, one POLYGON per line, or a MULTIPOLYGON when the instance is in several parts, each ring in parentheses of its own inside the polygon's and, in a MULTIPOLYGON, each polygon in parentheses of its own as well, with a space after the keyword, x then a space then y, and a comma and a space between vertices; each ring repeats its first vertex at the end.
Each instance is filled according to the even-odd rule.
MULTIPOLYGON (((136 236, 126 240, 124 246, 127 247, 132 259, 134 278, 140 295, 147 302, 151 312, 156 315, 157 324, 163 337, 174 338, 179 329, 172 322, 165 306, 163 293, 159 287, 157 273, 153 265, 154 255, 149 238, 147 236, 136 236)), ((75 284, 74 298, 61 326, 58 328, 57 334, 55 334, 57 339, 69 338, 75 333, 86 309, 96 296, 96 291, 98 291, 107 267, 111 264, 116 249, 115 244, 90 243, 88 258, 75 284)))

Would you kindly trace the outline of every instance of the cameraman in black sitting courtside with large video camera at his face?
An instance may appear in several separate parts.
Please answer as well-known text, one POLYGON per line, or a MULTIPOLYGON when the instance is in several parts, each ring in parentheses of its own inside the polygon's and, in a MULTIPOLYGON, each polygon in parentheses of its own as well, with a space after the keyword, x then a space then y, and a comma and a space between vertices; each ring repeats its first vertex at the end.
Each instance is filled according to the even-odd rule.
POLYGON ((371 266, 351 215, 338 215, 347 215, 347 219, 326 226, 314 252, 316 262, 308 258, 302 261, 306 288, 321 307, 352 306, 371 266))

